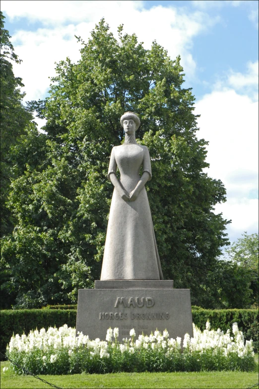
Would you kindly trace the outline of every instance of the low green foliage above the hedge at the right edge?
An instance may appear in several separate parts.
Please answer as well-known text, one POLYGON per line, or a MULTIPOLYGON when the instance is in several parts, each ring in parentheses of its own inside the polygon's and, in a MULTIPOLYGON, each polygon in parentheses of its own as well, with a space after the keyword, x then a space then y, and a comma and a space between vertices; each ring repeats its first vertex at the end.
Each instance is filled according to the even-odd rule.
POLYGON ((213 272, 208 272, 197 305, 212 309, 258 307, 258 233, 246 232, 225 249, 213 272))

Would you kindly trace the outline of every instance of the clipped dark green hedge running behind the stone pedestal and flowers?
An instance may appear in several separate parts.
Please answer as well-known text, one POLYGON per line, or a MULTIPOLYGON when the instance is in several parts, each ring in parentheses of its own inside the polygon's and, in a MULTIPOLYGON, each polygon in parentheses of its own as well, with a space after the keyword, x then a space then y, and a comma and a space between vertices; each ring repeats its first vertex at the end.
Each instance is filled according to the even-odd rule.
MULTIPOLYGON (((55 306, 53 306, 55 307, 55 306)), ((57 307, 57 306, 56 306, 57 307)), ((67 306, 66 306, 67 307, 67 306)), ((201 329, 205 329, 209 320, 211 328, 220 328, 224 332, 232 328, 234 322, 244 333, 245 339, 254 340, 255 351, 258 352, 258 310, 203 310, 193 307, 193 321, 201 329)), ((0 351, 5 353, 6 344, 12 334, 27 335, 31 329, 44 327, 60 327, 67 324, 75 327, 75 309, 42 309, 42 310, 4 310, 0 311, 0 351)))

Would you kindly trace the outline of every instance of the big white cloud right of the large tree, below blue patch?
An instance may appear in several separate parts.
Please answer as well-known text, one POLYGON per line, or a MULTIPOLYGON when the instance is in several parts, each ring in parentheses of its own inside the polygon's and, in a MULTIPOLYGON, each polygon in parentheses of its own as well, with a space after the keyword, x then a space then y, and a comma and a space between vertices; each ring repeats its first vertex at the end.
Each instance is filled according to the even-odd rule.
POLYGON ((227 190, 227 202, 217 204, 216 213, 232 219, 228 226, 233 241, 241 233, 258 232, 258 102, 234 89, 214 90, 195 104, 198 138, 209 141, 205 169, 220 179, 227 190))

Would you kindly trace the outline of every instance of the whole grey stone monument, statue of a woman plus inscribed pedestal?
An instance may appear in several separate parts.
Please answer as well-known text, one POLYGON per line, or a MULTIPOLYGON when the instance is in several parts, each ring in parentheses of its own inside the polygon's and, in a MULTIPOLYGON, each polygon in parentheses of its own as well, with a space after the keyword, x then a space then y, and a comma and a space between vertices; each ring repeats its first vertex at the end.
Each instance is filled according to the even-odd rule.
POLYGON ((136 336, 156 329, 167 329, 173 338, 193 336, 190 290, 173 289, 173 280, 163 280, 145 190, 152 177, 150 157, 135 140, 140 120, 126 112, 121 125, 125 142, 112 149, 108 170, 114 192, 101 278, 95 289, 78 291, 76 333, 105 340, 109 327, 119 327, 119 340, 129 337, 131 328, 136 336))

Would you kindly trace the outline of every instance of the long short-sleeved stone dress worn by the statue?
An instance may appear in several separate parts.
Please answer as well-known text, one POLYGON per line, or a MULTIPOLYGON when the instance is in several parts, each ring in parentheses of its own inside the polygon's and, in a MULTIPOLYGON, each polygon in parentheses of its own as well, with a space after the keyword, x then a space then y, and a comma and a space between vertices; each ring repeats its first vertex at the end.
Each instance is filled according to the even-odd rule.
MULTIPOLYGON (((122 187, 130 193, 138 183, 139 169, 151 179, 148 148, 124 144, 112 149, 108 177, 120 170, 122 187)), ((135 201, 123 200, 114 188, 107 226, 101 280, 162 280, 151 213, 143 187, 135 201)))

